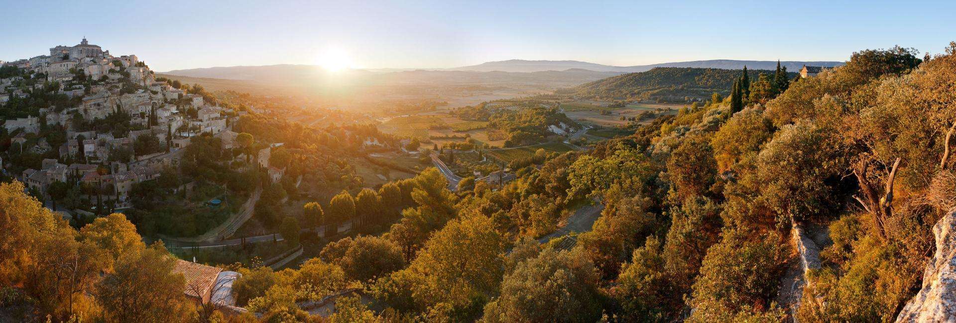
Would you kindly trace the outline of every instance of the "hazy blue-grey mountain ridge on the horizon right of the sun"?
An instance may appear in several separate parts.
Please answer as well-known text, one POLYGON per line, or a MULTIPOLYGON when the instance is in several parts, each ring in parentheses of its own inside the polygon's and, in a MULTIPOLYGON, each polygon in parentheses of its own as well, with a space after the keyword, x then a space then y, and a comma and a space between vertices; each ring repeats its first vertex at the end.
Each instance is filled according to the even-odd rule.
MULTIPOLYGON (((651 65, 637 66, 611 66, 601 65, 580 61, 547 61, 547 60, 521 60, 511 59, 507 61, 486 62, 478 65, 465 66, 460 68, 445 69, 451 71, 564 71, 568 69, 583 69, 589 71, 620 71, 620 72, 638 72, 650 71, 653 68, 700 68, 700 69, 723 69, 740 70, 747 66, 751 70, 776 70, 776 61, 742 61, 732 59, 713 59, 704 61, 672 62, 651 65)), ((843 62, 836 61, 781 61, 781 66, 787 67, 787 71, 798 71, 804 65, 819 67, 837 67, 842 66, 843 62)))

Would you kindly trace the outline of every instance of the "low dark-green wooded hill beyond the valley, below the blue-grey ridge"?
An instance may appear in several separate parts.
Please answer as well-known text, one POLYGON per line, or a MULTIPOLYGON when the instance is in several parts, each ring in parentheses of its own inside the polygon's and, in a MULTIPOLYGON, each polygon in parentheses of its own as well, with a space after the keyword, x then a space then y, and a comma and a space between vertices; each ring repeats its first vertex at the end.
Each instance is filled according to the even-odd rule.
MULTIPOLYGON (((751 80, 756 80, 760 73, 772 74, 774 71, 748 71, 751 80)), ((740 74, 738 70, 654 68, 608 77, 556 93, 604 100, 687 103, 706 100, 715 92, 727 96, 740 74)), ((796 73, 789 72, 787 76, 792 79, 796 73)))

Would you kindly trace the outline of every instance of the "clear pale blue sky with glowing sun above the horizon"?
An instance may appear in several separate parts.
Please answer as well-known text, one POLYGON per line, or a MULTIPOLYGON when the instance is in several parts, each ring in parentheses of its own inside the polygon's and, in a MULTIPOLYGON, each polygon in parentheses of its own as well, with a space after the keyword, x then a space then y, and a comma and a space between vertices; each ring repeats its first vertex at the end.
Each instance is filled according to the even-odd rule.
POLYGON ((363 68, 505 59, 643 65, 704 59, 845 60, 861 49, 940 52, 956 1, 26 1, 0 0, 0 60, 76 45, 135 53, 155 71, 315 64, 363 68))

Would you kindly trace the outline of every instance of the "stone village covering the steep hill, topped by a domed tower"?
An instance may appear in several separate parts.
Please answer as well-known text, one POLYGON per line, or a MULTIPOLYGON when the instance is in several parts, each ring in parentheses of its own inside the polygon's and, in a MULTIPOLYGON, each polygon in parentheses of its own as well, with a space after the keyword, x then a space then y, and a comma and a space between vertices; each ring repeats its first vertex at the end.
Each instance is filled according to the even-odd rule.
MULTIPOLYGON (((50 208, 84 185, 70 210, 85 209, 84 201, 129 207, 133 184, 176 166, 192 137, 211 135, 231 149, 238 135, 231 126, 254 111, 217 106, 202 87, 158 80, 136 55, 114 56, 86 38, 4 63, 0 104, 8 107, 0 114, 10 138, 4 173, 50 208)), ((270 149, 254 151, 257 166, 269 168, 270 149)))

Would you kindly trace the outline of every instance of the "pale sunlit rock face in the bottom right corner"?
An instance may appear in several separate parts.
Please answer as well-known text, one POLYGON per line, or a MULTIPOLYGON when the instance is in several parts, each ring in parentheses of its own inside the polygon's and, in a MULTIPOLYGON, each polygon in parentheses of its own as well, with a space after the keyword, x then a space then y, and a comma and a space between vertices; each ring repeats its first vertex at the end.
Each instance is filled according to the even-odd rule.
POLYGON ((933 226, 936 253, 926 264, 923 290, 913 296, 897 322, 956 322, 956 212, 933 226))

